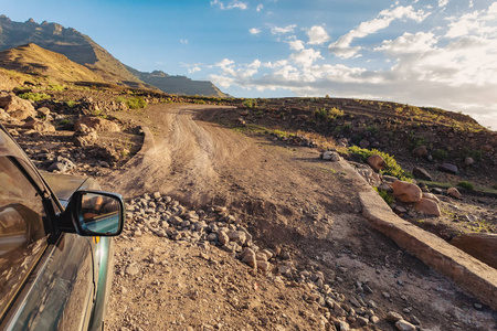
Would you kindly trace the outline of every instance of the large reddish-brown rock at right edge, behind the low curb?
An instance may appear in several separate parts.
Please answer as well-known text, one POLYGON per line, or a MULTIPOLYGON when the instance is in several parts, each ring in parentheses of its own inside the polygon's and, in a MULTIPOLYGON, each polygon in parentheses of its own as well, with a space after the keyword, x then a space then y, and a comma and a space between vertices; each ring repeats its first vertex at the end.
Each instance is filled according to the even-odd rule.
POLYGON ((462 234, 454 237, 451 244, 497 269, 497 234, 462 234))

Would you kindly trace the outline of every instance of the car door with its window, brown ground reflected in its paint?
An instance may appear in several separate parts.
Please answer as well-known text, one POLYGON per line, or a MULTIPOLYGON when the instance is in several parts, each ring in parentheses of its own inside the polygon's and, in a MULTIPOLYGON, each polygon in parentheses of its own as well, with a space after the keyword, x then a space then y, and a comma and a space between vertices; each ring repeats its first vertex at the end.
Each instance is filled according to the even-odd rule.
POLYGON ((84 330, 94 299, 91 238, 54 233, 56 200, 0 130, 0 329, 84 330))

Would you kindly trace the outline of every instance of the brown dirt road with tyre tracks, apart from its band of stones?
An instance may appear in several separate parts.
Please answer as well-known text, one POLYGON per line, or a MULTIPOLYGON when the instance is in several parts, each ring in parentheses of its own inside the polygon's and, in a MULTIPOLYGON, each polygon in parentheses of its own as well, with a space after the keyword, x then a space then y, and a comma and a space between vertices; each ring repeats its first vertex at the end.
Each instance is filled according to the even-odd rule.
MULTIPOLYGON (((381 321, 364 328, 394 330, 393 324, 384 321, 391 310, 415 316, 423 330, 494 328, 495 312, 485 308, 476 310, 474 299, 367 225, 360 215, 358 193, 370 188, 347 162, 324 162, 318 159, 316 149, 288 148, 272 141, 269 136, 246 136, 222 127, 216 122, 224 111, 229 109, 157 105, 142 114, 120 114, 123 119, 149 127, 155 148, 135 157, 125 170, 101 179, 104 189, 121 192, 126 197, 159 191, 193 210, 213 204, 228 206, 251 231, 257 245, 286 252, 285 258, 296 269, 322 271, 326 281, 346 296, 358 295, 358 282, 369 284, 373 291, 368 293, 367 300, 373 301, 371 305, 376 306, 381 321)), ((182 285, 169 288, 169 288, 167 291, 146 292, 144 288, 154 281, 150 275, 120 277, 115 284, 109 317, 112 330, 139 330, 138 325, 142 330, 184 330, 187 327, 201 330, 210 329, 208 324, 223 330, 330 328, 319 324, 319 318, 306 318, 307 312, 302 314, 306 288, 282 287, 265 276, 250 274, 240 263, 224 263, 229 257, 228 253, 223 255, 225 252, 211 254, 211 260, 216 260, 215 268, 203 261, 192 267, 188 260, 198 254, 192 252, 195 247, 181 247, 181 244, 169 241, 165 244, 163 238, 149 235, 117 243, 118 261, 126 257, 128 263, 131 258, 148 264, 150 254, 160 255, 160 259, 173 261, 165 267, 166 274, 178 276, 182 285), (130 250, 130 246, 134 249, 130 250), (202 288, 202 284, 205 286, 210 281, 204 279, 209 273, 213 274, 213 279, 221 279, 219 287, 224 284, 239 288, 235 292, 245 293, 250 313, 241 313, 236 309, 239 305, 231 302, 232 297, 226 298, 224 290, 200 289, 194 302, 186 305, 184 298, 191 296, 181 295, 184 287, 203 279, 200 285, 197 282, 197 287, 202 288), (251 300, 257 297, 250 289, 255 279, 264 285, 264 293, 257 302, 262 300, 273 306, 264 308, 257 303, 251 308, 251 300), (140 293, 154 297, 151 303, 140 302, 140 293), (214 303, 218 308, 210 309, 214 303), (293 322, 271 323, 269 310, 293 322), (158 319, 157 314, 163 319, 158 319)), ((175 277, 172 279, 178 278, 175 277)), ((306 307, 313 316, 326 316, 316 302, 306 307)))

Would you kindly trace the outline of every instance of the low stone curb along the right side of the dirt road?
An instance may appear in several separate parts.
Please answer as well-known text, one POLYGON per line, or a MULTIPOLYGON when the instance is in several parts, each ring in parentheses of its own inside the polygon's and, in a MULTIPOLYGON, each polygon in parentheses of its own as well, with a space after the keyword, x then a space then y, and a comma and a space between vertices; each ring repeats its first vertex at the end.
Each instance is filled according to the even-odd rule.
POLYGON ((359 192, 362 215, 377 231, 497 311, 497 270, 402 220, 373 190, 359 192))

